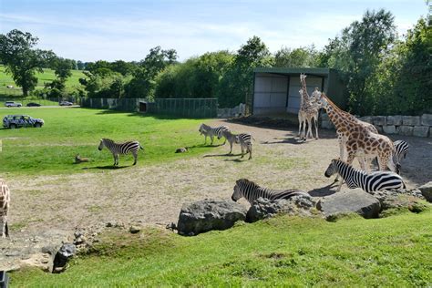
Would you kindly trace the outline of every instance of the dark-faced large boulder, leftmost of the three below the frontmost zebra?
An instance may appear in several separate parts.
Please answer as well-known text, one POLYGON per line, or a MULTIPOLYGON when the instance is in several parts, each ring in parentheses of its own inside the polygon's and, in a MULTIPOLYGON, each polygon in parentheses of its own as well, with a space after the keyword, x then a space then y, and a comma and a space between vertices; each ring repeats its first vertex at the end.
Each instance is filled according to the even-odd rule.
POLYGON ((203 200, 183 204, 177 228, 180 235, 197 235, 231 228, 246 219, 246 208, 233 201, 203 200))

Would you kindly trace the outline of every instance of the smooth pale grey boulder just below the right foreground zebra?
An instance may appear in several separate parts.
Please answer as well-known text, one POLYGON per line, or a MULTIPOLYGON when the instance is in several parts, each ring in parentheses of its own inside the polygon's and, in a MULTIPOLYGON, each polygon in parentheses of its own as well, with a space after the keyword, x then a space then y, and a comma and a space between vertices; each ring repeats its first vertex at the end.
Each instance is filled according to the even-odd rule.
POLYGON ((374 196, 359 188, 341 190, 320 200, 316 208, 325 216, 337 213, 355 212, 366 219, 378 217, 380 203, 374 196))

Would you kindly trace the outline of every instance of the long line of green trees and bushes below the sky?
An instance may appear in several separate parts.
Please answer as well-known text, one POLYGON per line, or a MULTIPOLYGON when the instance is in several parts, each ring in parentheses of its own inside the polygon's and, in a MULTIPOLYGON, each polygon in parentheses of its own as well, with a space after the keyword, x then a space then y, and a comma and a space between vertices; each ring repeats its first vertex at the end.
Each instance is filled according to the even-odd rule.
MULTIPOLYGON (((77 95, 89 98, 218 98, 221 108, 252 98, 255 67, 330 67, 345 84, 348 109, 359 115, 432 112, 432 35, 420 18, 406 36, 396 35, 394 16, 381 9, 329 39, 323 49, 282 47, 271 53, 258 36, 237 51, 208 52, 178 61, 174 49, 156 46, 140 61, 75 61, 35 49, 37 38, 13 30, 0 35, 0 61, 27 95, 36 87, 34 72, 55 70, 46 91, 64 91, 71 68, 86 77, 77 95)), ((331 96, 330 96, 331 97, 331 96)))

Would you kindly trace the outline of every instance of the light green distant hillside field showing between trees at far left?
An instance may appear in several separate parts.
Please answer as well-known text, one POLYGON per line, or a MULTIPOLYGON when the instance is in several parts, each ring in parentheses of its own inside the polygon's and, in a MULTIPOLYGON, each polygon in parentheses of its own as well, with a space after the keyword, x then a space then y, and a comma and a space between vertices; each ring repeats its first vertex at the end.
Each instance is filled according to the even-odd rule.
MULTIPOLYGON (((43 88, 45 83, 49 83, 56 78, 54 74, 54 70, 44 69, 44 73, 36 73, 37 77, 37 87, 43 88)), ((72 70, 72 76, 67 78, 66 87, 68 90, 73 90, 80 86, 78 79, 80 77, 85 77, 82 71, 80 70, 72 70)), ((14 80, 12 79, 12 75, 7 74, 5 72, 5 67, 0 66, 0 95, 13 95, 19 96, 22 95, 22 91, 20 87, 16 87, 14 80), (14 86, 13 89, 7 88, 8 85, 14 86)))

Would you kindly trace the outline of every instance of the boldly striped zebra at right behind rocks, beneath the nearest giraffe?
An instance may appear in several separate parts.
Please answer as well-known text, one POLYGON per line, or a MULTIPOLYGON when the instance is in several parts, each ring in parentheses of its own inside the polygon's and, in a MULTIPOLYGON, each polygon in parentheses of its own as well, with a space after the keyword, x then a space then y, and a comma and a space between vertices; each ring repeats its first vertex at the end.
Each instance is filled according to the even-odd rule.
MULTIPOLYGON (((340 159, 333 159, 327 170, 325 170, 324 175, 328 178, 335 173, 341 175, 349 188, 354 189, 358 187, 368 193, 379 190, 406 188, 404 180, 395 172, 383 170, 366 172, 355 169, 340 159)), ((339 185, 338 191, 341 190, 341 186, 342 184, 339 185)))

